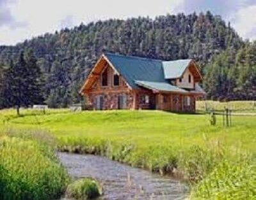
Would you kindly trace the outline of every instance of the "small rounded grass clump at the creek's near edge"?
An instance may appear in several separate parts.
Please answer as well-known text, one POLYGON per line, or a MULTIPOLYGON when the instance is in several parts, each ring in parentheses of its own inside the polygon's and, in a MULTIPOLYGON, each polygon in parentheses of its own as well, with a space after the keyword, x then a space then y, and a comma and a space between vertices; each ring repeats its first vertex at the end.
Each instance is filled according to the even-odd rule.
POLYGON ((93 199, 100 196, 99 183, 89 178, 83 178, 70 183, 67 187, 67 196, 74 199, 93 199))

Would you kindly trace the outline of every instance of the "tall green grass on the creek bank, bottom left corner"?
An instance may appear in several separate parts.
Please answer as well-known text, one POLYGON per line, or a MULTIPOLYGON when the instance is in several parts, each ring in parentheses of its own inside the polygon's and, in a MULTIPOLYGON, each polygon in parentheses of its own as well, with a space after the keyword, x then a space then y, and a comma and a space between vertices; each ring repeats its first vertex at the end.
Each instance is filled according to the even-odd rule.
POLYGON ((0 140, 0 199, 54 199, 69 182, 51 148, 20 138, 0 140))

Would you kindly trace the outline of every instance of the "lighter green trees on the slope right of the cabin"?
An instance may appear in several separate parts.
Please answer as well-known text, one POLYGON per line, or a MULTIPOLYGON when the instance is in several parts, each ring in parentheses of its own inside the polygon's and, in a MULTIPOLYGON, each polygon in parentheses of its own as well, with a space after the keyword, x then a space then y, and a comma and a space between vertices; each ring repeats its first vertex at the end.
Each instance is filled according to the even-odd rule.
POLYGON ((256 41, 227 48, 205 66, 204 87, 211 99, 256 99, 256 41))

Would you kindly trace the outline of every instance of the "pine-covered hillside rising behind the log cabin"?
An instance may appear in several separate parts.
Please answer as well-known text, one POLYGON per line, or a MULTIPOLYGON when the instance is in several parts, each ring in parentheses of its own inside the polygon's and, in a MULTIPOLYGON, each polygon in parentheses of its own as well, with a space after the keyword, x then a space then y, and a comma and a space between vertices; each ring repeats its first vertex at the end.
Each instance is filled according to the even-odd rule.
MULTIPOLYGON (((17 61, 20 50, 33 50, 44 75, 45 101, 58 107, 79 101, 79 87, 104 51, 165 60, 193 58, 205 75, 204 87, 208 97, 223 98, 227 95, 227 88, 228 92, 243 92, 247 87, 243 85, 244 80, 255 86, 255 76, 251 77, 250 71, 255 70, 252 57, 256 56, 255 51, 245 50, 248 46, 255 48, 255 43, 244 42, 230 24, 225 24, 221 17, 210 12, 166 15, 155 19, 139 17, 81 24, 16 46, 0 46, 0 68, 9 66, 11 59, 17 61), (250 57, 250 61, 244 62, 244 57, 250 57), (239 81, 234 81, 238 76, 239 81), (230 77, 233 79, 227 86, 225 81, 230 77)), ((240 93, 228 97, 247 98, 240 93)), ((255 97, 255 90, 250 98, 253 95, 255 97)))

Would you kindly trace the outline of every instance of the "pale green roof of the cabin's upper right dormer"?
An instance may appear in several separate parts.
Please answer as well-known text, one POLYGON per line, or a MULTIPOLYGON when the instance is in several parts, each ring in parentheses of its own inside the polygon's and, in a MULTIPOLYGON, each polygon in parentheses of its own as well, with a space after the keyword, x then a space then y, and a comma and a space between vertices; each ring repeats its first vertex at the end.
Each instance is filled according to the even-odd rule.
POLYGON ((177 61, 163 61, 164 78, 172 79, 179 78, 188 67, 191 59, 177 61))

